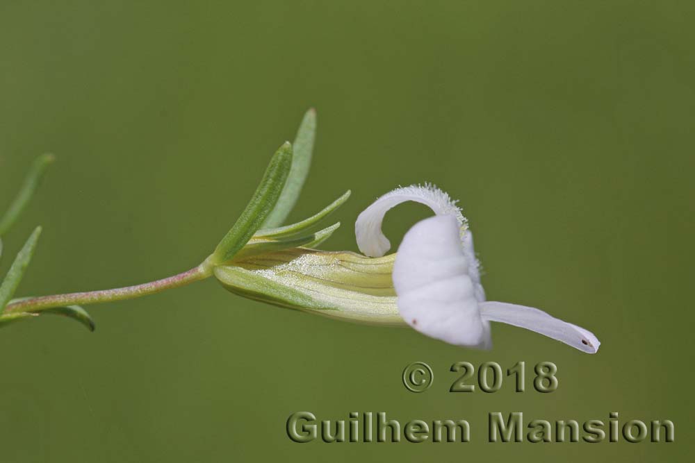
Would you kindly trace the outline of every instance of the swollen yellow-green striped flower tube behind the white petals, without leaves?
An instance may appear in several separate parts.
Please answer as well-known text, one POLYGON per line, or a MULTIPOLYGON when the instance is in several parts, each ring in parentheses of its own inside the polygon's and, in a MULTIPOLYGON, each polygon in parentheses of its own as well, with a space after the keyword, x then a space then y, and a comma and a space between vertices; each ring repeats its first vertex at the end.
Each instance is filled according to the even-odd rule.
POLYGON ((391 281, 395 255, 295 248, 215 267, 234 294, 361 323, 403 326, 391 281))

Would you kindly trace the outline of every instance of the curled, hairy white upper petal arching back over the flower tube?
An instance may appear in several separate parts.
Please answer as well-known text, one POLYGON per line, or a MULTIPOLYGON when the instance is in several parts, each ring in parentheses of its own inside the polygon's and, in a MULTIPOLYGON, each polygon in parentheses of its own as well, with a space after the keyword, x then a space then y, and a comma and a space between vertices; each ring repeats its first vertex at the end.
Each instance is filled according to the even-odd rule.
POLYGON ((368 208, 362 211, 354 223, 354 234, 357 239, 357 247, 371 258, 381 257, 389 251, 391 243, 382 233, 382 221, 384 215, 394 206, 406 201, 415 201, 427 205, 437 215, 450 214, 456 217, 461 233, 464 232, 467 222, 455 203, 448 194, 434 187, 434 185, 396 188, 395 190, 380 196, 368 208))

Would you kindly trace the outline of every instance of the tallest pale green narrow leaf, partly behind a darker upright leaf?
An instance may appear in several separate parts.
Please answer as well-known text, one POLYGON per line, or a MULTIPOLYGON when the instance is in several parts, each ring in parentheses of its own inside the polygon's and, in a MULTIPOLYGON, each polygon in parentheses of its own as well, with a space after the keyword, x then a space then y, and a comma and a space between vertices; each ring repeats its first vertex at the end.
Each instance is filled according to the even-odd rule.
POLYGON ((304 180, 309 175, 309 167, 311 167, 311 153, 313 153, 313 142, 316 138, 316 110, 311 108, 306 111, 302 124, 297 131, 297 137, 293 143, 294 157, 292 160, 292 169, 290 176, 287 178, 287 183, 282 190, 280 199, 275 205, 275 209, 270 212, 268 218, 265 219, 263 226, 266 228, 275 228, 284 224, 285 219, 295 207, 297 199, 302 192, 304 180))

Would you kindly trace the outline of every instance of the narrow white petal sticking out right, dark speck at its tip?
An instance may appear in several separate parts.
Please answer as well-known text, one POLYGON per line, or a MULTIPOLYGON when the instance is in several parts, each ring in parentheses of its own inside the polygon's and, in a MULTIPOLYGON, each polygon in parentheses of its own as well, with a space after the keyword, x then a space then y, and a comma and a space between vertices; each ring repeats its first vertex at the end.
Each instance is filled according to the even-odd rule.
POLYGON ((485 320, 526 328, 587 353, 596 353, 601 345, 594 333, 525 305, 484 302, 480 304, 480 314, 485 320))

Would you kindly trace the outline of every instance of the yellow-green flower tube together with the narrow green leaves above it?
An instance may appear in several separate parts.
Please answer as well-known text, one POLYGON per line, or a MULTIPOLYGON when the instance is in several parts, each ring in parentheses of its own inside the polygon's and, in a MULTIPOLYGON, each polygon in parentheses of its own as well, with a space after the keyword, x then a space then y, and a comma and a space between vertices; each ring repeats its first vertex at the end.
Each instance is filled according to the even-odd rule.
POLYGON ((284 171, 275 173, 279 162, 271 160, 245 213, 208 259, 213 274, 230 292, 247 298, 327 317, 401 326, 391 281, 393 255, 372 259, 313 249, 340 226, 320 228, 350 191, 313 216, 281 226, 309 171, 315 133, 316 114, 310 110, 297 132, 291 167, 282 166, 288 169, 286 176, 284 171), (271 178, 274 185, 268 185, 271 178), (259 211, 254 221, 244 219, 250 210, 259 211))

